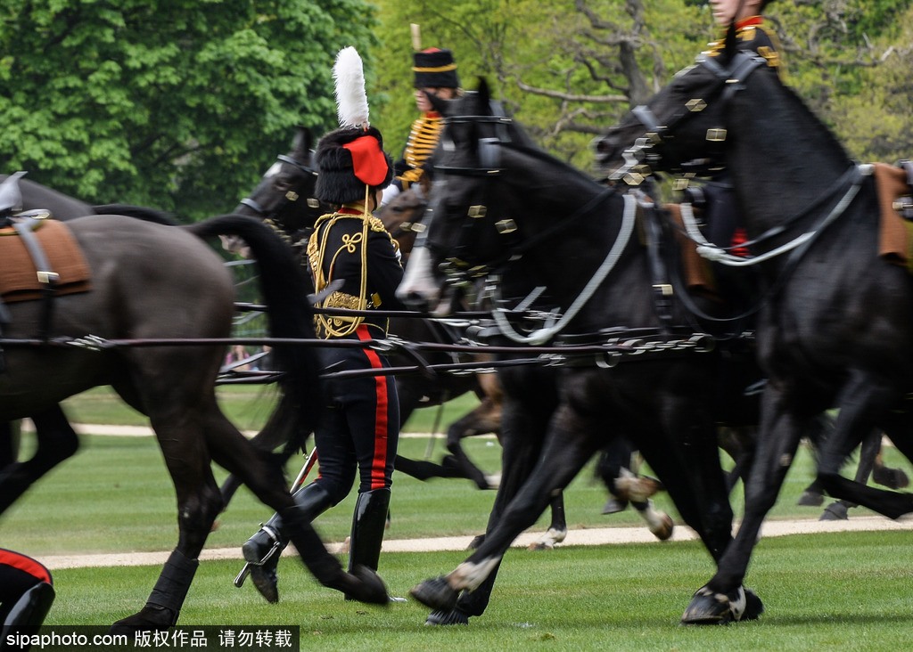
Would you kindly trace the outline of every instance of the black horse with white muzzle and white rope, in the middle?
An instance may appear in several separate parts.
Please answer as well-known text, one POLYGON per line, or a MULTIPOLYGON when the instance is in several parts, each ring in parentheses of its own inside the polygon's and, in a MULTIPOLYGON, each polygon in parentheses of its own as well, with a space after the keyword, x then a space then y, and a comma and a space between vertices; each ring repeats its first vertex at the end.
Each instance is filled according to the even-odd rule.
MULTIPOLYGON (((499 296, 510 297, 510 304, 522 301, 550 315, 544 324, 515 324, 502 315, 498 330, 510 341, 589 343, 603 353, 575 357, 569 350, 564 366, 499 371, 504 452, 495 509, 485 542, 466 562, 413 589, 435 610, 428 622, 479 616, 509 544, 597 450, 621 437, 643 452, 686 523, 719 559, 732 525, 714 428, 720 357, 691 347, 705 339, 664 291, 660 258, 640 244, 635 198, 535 148, 515 121, 493 109, 484 83, 447 110, 441 142, 432 219, 400 294, 415 305, 448 305, 441 301, 442 265, 451 284, 488 274, 499 289, 496 305, 499 296), (612 341, 630 343, 619 351, 643 345, 644 353, 655 353, 614 365, 604 357, 612 341)), ((645 232, 654 243, 656 236, 645 232)), ((738 616, 743 609, 757 616, 760 600, 742 595, 733 606, 738 616)))

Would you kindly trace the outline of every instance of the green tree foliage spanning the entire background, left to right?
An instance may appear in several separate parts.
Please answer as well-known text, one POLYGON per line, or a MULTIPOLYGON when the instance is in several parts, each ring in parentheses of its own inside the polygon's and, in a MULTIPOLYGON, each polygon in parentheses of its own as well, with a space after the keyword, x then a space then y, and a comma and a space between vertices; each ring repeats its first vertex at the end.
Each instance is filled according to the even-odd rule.
MULTIPOLYGON (((719 36, 703 0, 5 0, 0 171, 89 202, 230 210, 294 128, 336 126, 331 67, 365 61, 398 158, 417 116, 410 24, 484 77, 552 153, 593 136, 719 36)), ((913 0, 778 0, 789 81, 855 156, 911 155, 913 0)))

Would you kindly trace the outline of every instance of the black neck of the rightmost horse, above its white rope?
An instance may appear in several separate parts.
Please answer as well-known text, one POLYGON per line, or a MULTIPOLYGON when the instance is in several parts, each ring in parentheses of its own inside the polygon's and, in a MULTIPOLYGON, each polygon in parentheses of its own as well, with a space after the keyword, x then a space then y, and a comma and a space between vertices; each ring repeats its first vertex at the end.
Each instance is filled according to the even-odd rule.
POLYGON ((752 236, 820 199, 850 166, 824 124, 766 70, 733 99, 728 126, 729 171, 752 236))

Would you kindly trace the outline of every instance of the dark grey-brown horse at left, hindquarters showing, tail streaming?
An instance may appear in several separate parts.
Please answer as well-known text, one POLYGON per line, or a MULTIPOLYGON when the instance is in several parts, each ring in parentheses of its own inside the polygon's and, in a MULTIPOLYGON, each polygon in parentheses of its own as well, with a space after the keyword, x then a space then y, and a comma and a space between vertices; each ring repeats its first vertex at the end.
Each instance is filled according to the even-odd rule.
MULTIPOLYGON (((6 205, 16 203, 0 202, 0 208, 6 205)), ((212 461, 235 473, 272 509, 288 515, 286 523, 295 532, 292 541, 321 584, 385 604, 380 579, 362 568, 352 574, 342 571, 310 524, 299 517, 276 462, 257 453, 215 400, 215 376, 225 353, 221 340, 229 336, 235 313, 234 287, 222 261, 201 238, 221 233, 243 237, 260 261, 272 335, 308 338, 310 308, 303 299, 309 284, 288 249, 262 224, 232 215, 191 227, 92 215, 67 226, 88 264, 91 288, 55 296, 49 320, 42 300, 5 305, 0 423, 33 419, 37 451, 30 460, 0 470, 0 512, 77 450, 77 435, 60 401, 110 385, 151 421, 174 483, 180 531, 148 602, 115 623, 114 631, 162 630, 177 622, 197 557, 222 505, 212 461), (43 326, 47 338, 37 336, 43 326), (207 338, 219 342, 173 342, 207 338), (119 346, 119 340, 133 346, 119 346), (156 340, 169 340, 169 345, 156 340)), ((303 347, 275 351, 286 371, 283 389, 298 402, 301 431, 307 431, 317 418, 318 366, 303 347)))

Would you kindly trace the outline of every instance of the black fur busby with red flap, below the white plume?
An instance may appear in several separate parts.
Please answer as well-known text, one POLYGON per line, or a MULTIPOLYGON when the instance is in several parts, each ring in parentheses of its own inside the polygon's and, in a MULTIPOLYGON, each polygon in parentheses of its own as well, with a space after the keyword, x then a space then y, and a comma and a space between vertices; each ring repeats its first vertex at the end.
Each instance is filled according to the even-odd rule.
POLYGON ((317 143, 320 174, 314 195, 334 204, 364 199, 364 187, 381 191, 394 176, 394 161, 383 151, 383 136, 374 127, 343 127, 317 143))

